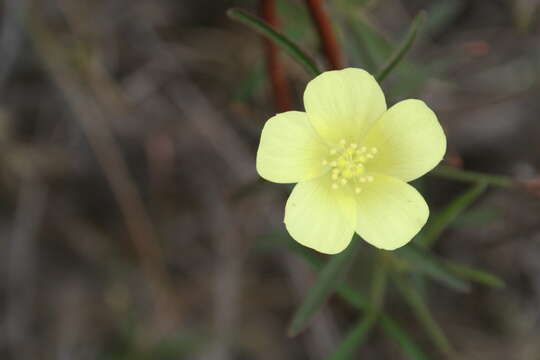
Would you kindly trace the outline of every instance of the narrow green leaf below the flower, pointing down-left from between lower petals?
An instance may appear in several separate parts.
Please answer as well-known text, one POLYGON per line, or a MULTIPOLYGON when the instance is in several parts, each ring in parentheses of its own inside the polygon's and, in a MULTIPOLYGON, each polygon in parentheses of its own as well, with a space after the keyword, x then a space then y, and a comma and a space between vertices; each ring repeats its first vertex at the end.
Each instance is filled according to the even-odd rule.
POLYGON ((304 302, 296 310, 291 320, 288 330, 289 336, 296 336, 300 333, 326 299, 336 290, 341 277, 354 260, 359 246, 360 241, 353 239, 347 249, 337 255, 333 255, 322 268, 315 284, 309 290, 304 302))

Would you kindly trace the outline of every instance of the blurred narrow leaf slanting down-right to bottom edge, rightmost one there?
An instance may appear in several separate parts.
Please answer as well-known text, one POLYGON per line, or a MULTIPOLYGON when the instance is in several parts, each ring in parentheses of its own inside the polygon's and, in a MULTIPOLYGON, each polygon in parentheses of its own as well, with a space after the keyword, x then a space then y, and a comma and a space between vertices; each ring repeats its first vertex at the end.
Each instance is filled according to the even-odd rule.
POLYGON ((433 344, 444 354, 452 355, 454 350, 448 341, 448 338, 444 334, 439 324, 431 315, 431 311, 427 306, 424 298, 413 287, 410 281, 406 281, 403 276, 395 276, 394 283, 405 301, 409 304, 414 311, 416 317, 424 326, 426 332, 431 337, 433 344))

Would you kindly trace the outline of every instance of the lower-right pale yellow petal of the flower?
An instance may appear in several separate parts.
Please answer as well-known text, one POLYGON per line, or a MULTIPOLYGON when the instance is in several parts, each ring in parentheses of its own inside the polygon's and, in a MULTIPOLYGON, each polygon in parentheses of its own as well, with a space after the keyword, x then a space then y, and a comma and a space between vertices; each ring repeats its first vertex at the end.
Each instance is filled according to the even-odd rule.
POLYGON ((429 208, 415 188, 384 175, 358 194, 356 232, 371 245, 394 250, 407 244, 424 226, 429 208))

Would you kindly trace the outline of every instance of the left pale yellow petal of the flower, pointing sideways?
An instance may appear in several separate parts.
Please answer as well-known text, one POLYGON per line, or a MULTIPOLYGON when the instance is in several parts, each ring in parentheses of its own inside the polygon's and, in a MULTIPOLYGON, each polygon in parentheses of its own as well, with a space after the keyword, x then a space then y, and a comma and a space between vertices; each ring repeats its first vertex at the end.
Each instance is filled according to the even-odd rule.
POLYGON ((257 150, 257 172, 276 183, 320 176, 328 148, 303 112, 288 111, 266 122, 257 150))

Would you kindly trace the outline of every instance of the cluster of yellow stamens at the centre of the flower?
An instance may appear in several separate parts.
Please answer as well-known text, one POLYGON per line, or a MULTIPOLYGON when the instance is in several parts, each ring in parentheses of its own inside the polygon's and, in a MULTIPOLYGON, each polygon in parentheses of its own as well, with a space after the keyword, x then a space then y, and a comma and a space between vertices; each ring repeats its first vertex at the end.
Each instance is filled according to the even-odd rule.
POLYGON ((373 176, 366 174, 366 165, 377 154, 375 147, 367 148, 342 139, 338 146, 330 149, 330 156, 322 160, 332 177, 332 189, 351 186, 356 194, 362 192, 362 184, 373 182, 373 176))

